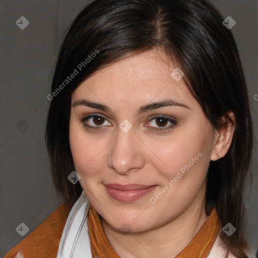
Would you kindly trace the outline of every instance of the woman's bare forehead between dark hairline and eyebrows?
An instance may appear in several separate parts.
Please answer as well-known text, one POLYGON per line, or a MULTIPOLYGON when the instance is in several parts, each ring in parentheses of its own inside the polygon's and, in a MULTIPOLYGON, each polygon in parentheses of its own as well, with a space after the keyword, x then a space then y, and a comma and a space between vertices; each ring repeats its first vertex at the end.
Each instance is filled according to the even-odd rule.
POLYGON ((78 86, 72 98, 115 99, 131 105, 175 98, 190 104, 194 99, 183 79, 176 81, 171 76, 175 69, 175 64, 157 50, 135 54, 99 70, 78 86))

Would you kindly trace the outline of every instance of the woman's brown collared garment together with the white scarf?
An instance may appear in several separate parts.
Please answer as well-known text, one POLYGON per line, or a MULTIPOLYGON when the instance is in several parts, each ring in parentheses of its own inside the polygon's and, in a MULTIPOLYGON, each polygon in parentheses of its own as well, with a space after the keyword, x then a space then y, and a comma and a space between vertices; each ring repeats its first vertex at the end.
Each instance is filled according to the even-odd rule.
MULTIPOLYGON (((217 236, 218 229, 220 228, 219 223, 217 213, 214 210, 196 237, 192 239, 176 258, 225 257, 226 249, 217 236), (201 237, 198 238, 198 235, 201 237), (199 246, 199 256, 192 254, 192 252, 197 251, 197 246, 199 246)), ((103 232, 97 212, 89 204, 85 193, 82 192, 70 212, 64 204, 60 205, 39 227, 14 246, 4 258, 15 258, 20 249, 23 249, 24 258, 94 258, 97 255, 100 258, 119 257, 103 232), (99 250, 94 250, 94 248, 99 250), (103 256, 101 248, 106 248, 105 254, 108 251, 111 256, 103 256)), ((229 258, 232 257, 234 256, 229 255, 229 258)))

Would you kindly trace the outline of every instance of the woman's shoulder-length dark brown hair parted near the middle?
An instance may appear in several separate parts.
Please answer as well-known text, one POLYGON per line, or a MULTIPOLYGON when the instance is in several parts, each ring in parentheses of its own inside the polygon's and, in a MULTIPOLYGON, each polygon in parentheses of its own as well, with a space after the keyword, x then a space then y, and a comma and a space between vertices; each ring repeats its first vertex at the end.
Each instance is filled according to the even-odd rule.
POLYGON ((222 231, 221 238, 236 257, 247 257, 242 195, 252 153, 252 121, 238 49, 223 20, 206 0, 96 0, 76 17, 59 51, 45 134, 54 184, 69 207, 82 192, 79 183, 68 180, 75 170, 69 144, 73 91, 125 56, 160 48, 184 72, 187 87, 214 128, 223 126, 223 116, 233 122, 228 111, 235 114, 228 153, 210 162, 206 212, 216 207, 222 225, 235 226, 236 232, 228 237, 222 231), (79 74, 64 85, 75 69, 79 74), (60 85, 65 86, 61 91, 60 85))

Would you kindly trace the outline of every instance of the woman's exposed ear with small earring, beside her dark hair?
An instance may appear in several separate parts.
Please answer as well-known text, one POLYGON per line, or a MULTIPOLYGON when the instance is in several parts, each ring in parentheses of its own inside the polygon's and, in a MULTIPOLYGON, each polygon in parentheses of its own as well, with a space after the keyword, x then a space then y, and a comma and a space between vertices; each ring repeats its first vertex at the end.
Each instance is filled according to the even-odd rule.
MULTIPOLYGON (((235 123, 234 113, 232 111, 229 111, 228 115, 235 123)), ((217 130, 215 133, 214 148, 211 155, 211 160, 213 161, 218 160, 219 157, 222 158, 226 155, 235 131, 235 125, 232 124, 231 121, 226 119, 225 116, 222 117, 222 121, 225 125, 220 130, 217 130)))

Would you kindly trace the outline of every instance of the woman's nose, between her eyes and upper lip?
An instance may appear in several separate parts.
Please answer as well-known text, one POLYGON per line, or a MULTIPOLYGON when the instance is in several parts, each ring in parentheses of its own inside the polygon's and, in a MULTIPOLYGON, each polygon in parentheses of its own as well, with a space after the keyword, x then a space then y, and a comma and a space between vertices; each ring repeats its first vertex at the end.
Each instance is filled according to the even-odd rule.
POLYGON ((125 175, 144 167, 144 152, 133 128, 127 133, 118 128, 117 136, 110 144, 108 166, 117 173, 125 175))

